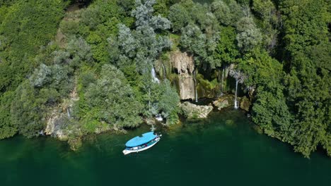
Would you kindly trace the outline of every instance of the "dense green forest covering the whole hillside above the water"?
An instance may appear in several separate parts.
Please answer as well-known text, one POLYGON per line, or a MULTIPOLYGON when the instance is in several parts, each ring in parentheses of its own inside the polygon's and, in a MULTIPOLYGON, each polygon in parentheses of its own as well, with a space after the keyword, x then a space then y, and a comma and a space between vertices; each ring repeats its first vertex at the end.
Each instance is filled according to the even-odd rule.
POLYGON ((55 116, 71 144, 174 125, 172 72, 151 71, 180 50, 210 87, 234 66, 267 135, 331 156, 330 29, 329 0, 0 0, 0 139, 42 135, 55 116))

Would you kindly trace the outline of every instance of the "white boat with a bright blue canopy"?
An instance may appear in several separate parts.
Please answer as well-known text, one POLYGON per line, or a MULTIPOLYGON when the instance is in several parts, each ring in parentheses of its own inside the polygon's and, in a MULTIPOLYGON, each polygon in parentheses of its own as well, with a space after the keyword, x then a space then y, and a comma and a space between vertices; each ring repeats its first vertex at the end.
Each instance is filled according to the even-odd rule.
POLYGON ((154 132, 146 132, 141 136, 137 136, 127 141, 123 154, 127 155, 132 152, 139 152, 153 147, 161 139, 161 134, 154 132))

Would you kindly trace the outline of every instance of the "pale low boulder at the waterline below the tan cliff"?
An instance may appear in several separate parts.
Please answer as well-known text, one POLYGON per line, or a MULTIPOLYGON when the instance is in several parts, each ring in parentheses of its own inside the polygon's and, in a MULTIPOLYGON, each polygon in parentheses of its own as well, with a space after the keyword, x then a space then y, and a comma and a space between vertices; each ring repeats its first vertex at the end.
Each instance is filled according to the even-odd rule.
POLYGON ((207 118, 208 114, 213 110, 213 106, 197 106, 188 101, 180 104, 180 108, 186 118, 189 119, 207 118))

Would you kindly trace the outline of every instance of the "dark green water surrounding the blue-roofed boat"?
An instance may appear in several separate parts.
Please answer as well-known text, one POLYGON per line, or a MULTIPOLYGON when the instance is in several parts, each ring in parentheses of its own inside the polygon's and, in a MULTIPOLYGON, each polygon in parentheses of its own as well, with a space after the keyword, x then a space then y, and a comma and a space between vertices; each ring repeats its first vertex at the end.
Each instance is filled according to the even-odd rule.
POLYGON ((123 156, 124 143, 148 130, 90 137, 79 152, 46 137, 2 140, 0 185, 331 185, 323 152, 304 159, 240 111, 163 131, 153 148, 123 156))

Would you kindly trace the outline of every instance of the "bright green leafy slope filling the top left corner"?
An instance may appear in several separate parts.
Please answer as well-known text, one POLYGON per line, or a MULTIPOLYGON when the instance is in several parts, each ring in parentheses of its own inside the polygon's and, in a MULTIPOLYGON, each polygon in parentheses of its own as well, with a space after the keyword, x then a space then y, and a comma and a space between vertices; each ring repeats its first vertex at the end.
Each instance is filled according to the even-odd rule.
POLYGON ((2 92, 16 89, 33 69, 29 59, 54 37, 65 5, 63 1, 17 1, 8 8, 0 25, 2 92))

